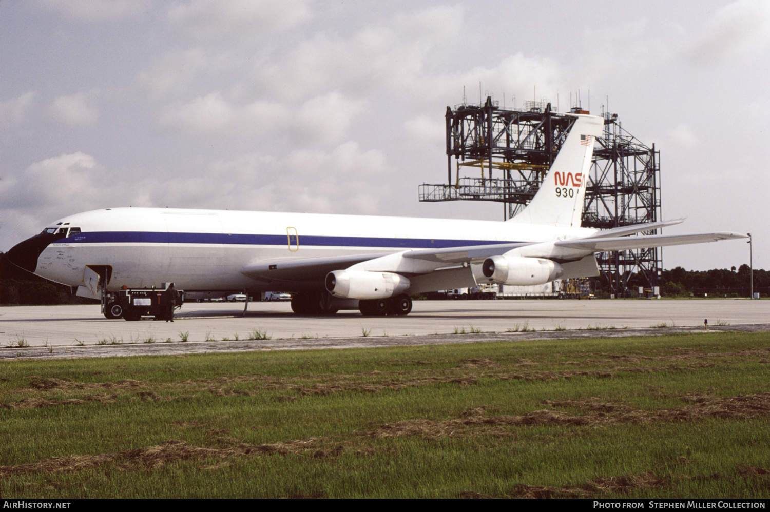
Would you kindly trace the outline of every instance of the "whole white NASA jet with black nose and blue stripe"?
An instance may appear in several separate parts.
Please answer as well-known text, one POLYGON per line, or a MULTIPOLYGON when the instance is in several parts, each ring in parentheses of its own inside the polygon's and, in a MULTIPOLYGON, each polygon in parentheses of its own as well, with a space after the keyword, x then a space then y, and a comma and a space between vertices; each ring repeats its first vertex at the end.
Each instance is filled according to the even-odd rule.
POLYGON ((406 315, 417 293, 598 276, 594 253, 745 238, 628 236, 681 220, 581 228, 594 137, 603 125, 600 117, 574 115, 537 194, 504 222, 108 208, 59 219, 8 259, 86 296, 172 282, 186 293, 289 291, 295 313, 357 307, 365 315, 406 315))

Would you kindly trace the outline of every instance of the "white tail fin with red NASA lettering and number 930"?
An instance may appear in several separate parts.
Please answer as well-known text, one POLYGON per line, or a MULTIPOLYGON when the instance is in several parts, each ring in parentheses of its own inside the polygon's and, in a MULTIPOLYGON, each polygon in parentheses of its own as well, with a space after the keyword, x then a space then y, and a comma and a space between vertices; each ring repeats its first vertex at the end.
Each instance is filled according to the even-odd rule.
POLYGON ((540 189, 527 207, 509 222, 580 227, 585 186, 594 156, 594 137, 602 135, 604 119, 574 115, 577 119, 540 189))

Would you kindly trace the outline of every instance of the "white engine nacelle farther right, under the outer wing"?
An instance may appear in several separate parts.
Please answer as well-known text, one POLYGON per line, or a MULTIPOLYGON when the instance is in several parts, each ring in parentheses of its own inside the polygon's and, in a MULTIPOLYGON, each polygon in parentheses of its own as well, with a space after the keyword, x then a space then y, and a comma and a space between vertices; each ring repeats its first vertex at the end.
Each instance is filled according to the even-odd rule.
POLYGON ((492 256, 484 260, 481 270, 490 283, 516 286, 544 284, 564 274, 564 268, 551 259, 522 256, 492 256))

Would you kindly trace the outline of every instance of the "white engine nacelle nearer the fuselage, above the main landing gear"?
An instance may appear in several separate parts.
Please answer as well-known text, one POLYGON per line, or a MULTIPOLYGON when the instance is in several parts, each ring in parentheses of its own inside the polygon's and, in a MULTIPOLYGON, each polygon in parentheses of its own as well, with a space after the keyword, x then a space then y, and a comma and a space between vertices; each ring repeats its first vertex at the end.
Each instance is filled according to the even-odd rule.
POLYGON ((326 290, 343 299, 387 299, 410 286, 409 279, 393 272, 334 270, 326 274, 326 290))

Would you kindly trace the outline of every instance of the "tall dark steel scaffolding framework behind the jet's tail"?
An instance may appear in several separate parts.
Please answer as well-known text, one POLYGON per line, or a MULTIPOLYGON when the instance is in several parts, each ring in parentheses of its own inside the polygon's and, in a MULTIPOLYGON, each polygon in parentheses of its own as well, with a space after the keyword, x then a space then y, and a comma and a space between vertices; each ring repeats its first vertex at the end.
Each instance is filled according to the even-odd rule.
MULTIPOLYGON (((588 114, 577 107, 571 112, 588 114)), ((484 103, 447 107, 447 182, 420 185, 420 201, 503 202, 504 218, 510 219, 537 193, 574 119, 553 112, 547 102, 500 109, 487 97, 484 103), (472 169, 480 176, 467 176, 472 169)), ((655 222, 661 214, 660 196, 660 152, 622 129, 616 114, 604 114, 604 136, 594 147, 586 187, 583 226, 609 229, 655 222)), ((604 284, 615 296, 635 296, 635 290, 628 289, 634 273, 644 276, 645 287, 658 286, 658 248, 601 253, 597 259, 604 284)))

